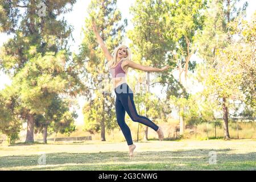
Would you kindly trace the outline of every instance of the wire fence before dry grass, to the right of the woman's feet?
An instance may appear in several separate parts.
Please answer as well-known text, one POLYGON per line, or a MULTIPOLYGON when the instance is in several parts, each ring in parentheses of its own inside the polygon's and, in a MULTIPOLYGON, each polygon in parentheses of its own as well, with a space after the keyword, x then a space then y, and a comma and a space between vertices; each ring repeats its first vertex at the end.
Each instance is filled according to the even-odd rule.
MULTIPOLYGON (((234 139, 256 138, 256 120, 253 119, 229 119, 229 135, 234 139)), ((180 138, 179 122, 175 121, 164 126, 166 138, 180 138)), ((183 134, 184 139, 214 139, 224 137, 224 121, 212 121, 201 123, 186 123, 183 134)))

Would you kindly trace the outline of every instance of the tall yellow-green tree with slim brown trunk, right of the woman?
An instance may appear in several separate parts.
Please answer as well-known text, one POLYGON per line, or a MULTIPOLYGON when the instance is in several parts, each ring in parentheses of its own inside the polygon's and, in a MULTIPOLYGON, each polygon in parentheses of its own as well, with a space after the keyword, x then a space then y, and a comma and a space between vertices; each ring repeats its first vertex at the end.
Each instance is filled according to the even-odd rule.
POLYGON ((237 16, 243 16, 247 3, 242 9, 236 9, 238 1, 210 1, 205 11, 203 31, 199 36, 199 51, 205 59, 208 73, 205 75, 205 96, 216 95, 222 106, 224 118, 224 138, 229 139, 228 107, 230 99, 241 99, 239 86, 241 72, 237 69, 238 61, 233 56, 233 41, 229 24, 237 16), (226 5, 226 7, 224 6, 226 5))

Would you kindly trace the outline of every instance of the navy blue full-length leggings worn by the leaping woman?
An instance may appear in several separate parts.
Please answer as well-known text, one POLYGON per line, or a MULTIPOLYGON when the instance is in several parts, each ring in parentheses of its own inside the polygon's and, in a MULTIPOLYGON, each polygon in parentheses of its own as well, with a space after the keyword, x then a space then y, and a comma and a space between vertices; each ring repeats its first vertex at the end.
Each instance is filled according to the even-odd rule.
POLYGON ((133 91, 126 83, 117 86, 117 88, 115 88, 115 94, 117 95, 115 99, 117 123, 121 127, 122 133, 125 136, 128 145, 133 144, 133 139, 131 139, 131 131, 125 123, 125 111, 134 122, 142 123, 148 127, 151 127, 155 131, 158 130, 158 126, 155 125, 154 122, 137 113, 133 101, 133 91))

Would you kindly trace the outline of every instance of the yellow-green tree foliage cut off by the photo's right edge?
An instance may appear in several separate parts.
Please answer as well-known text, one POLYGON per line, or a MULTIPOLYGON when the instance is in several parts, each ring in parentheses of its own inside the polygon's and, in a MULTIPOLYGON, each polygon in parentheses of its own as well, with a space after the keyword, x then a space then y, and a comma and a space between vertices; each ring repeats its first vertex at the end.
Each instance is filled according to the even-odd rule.
POLYGON ((255 61, 255 18, 256 11, 250 21, 238 16, 229 23, 230 34, 238 40, 233 41, 232 52, 234 59, 238 61, 238 68, 242 74, 241 90, 245 95, 245 104, 252 110, 256 108, 256 61, 255 61))

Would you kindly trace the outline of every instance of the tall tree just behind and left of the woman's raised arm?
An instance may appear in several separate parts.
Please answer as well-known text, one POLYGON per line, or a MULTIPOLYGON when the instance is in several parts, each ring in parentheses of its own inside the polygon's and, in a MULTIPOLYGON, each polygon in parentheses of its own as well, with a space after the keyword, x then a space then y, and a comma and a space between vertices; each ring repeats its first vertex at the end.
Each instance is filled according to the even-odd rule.
POLYGON ((84 106, 85 129, 101 132, 101 140, 105 141, 105 127, 112 128, 114 99, 110 93, 109 70, 101 48, 96 42, 92 29, 92 19, 95 19, 101 38, 109 50, 113 50, 122 42, 127 20, 121 22, 121 12, 116 7, 116 0, 92 1, 88 7, 89 18, 85 20, 84 40, 80 47, 78 62, 83 62, 85 72, 82 75, 87 81, 85 91, 88 103, 84 106), (89 88, 90 87, 90 88, 89 88), (89 123, 94 123, 92 126, 89 123))

